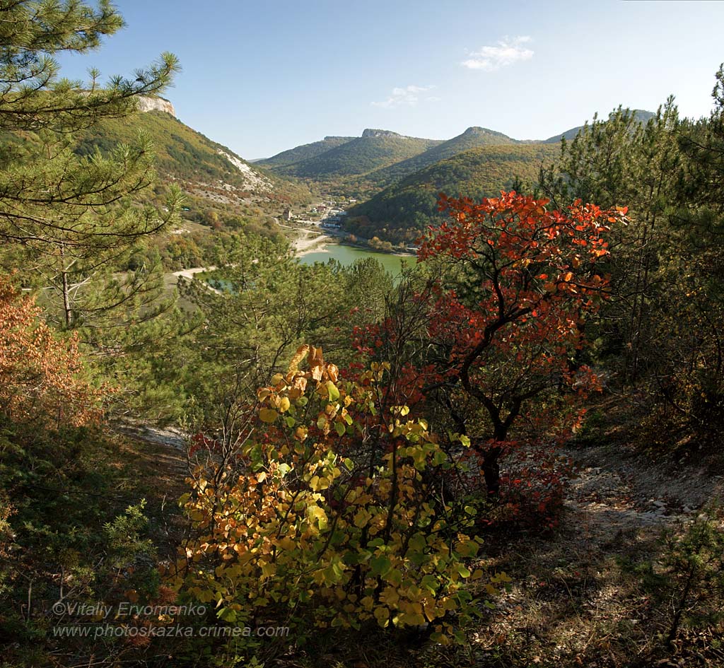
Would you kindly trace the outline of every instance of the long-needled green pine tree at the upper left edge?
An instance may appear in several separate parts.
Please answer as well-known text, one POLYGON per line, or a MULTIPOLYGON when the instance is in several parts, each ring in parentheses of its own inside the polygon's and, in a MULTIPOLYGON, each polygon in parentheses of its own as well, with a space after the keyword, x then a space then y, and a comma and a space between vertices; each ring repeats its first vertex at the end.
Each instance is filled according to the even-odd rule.
POLYGON ((134 113, 140 96, 153 96, 178 69, 172 54, 132 77, 101 85, 60 76, 54 56, 84 54, 122 28, 107 0, 0 0, 0 240, 4 269, 24 266, 35 284, 59 297, 59 321, 72 329, 109 311, 134 310, 158 287, 153 272, 111 276, 125 255, 176 215, 138 206, 153 182, 153 150, 143 135, 108 154, 74 152, 75 132, 105 118, 134 113))

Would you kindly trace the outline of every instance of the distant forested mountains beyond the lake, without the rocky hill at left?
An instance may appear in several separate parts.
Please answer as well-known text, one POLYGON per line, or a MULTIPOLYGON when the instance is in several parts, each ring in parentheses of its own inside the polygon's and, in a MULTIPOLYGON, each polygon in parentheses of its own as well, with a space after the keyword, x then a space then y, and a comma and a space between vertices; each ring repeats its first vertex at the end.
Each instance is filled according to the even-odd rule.
MULTIPOLYGON (((654 116, 635 111, 639 122, 654 116)), ((259 161, 329 193, 361 199, 349 209, 345 229, 361 237, 409 243, 439 219, 437 195, 471 198, 511 187, 531 187, 544 162, 560 153, 584 126, 545 140, 516 140, 486 127, 468 127, 439 141, 365 130, 360 137, 327 137, 259 161)))

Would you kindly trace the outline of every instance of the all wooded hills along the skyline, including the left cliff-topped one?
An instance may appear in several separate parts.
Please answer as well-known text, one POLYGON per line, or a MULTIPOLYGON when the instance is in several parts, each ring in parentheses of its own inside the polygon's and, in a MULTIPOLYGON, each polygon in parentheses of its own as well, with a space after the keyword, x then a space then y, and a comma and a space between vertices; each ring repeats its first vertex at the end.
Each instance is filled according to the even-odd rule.
MULTIPOLYGON (((367 129, 359 137, 325 137, 251 165, 180 122, 168 101, 143 109, 129 119, 101 122, 80 138, 77 151, 106 151, 143 131, 153 141, 162 179, 179 183, 195 200, 190 219, 202 219, 207 206, 247 217, 261 208, 279 216, 285 208, 304 208, 314 191, 361 200, 348 210, 348 231, 401 243, 439 219, 438 193, 480 198, 532 185, 540 166, 560 152, 560 140, 575 138, 584 127, 540 141, 477 126, 449 140, 367 129)), ((636 111, 641 122, 653 115, 636 111)))

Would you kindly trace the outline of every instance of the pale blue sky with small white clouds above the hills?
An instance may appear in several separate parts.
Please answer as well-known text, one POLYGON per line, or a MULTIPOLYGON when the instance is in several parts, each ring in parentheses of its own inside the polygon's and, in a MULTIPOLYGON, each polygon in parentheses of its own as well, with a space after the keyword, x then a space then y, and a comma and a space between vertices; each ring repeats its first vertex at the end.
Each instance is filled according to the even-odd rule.
POLYGON ((540 139, 618 104, 711 109, 724 2, 118 0, 127 27, 63 72, 171 51, 178 117, 243 158, 366 127, 540 139))

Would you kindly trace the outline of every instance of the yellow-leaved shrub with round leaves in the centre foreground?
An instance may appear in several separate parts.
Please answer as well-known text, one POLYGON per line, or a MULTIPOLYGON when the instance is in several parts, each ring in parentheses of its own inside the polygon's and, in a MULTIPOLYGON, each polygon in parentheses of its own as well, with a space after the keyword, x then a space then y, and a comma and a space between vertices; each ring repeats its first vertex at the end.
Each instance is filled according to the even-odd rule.
POLYGON ((454 464, 425 420, 384 405, 387 375, 373 364, 345 380, 320 349, 300 347, 258 392, 243 473, 227 464, 189 479, 195 538, 178 572, 221 620, 274 620, 298 637, 369 623, 460 636, 476 609, 468 581, 484 574, 468 567, 481 501, 446 498, 454 464))

